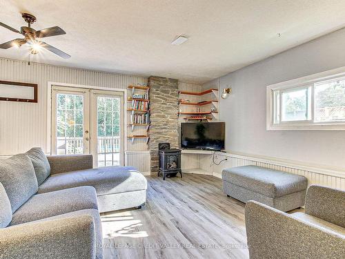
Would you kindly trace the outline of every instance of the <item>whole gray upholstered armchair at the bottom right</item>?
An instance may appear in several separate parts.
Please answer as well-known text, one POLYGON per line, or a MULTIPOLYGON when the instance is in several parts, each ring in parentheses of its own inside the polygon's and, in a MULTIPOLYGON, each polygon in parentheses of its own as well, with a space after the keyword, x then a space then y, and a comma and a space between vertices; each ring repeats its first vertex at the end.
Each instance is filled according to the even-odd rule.
POLYGON ((345 258, 345 191, 311 185, 305 213, 246 204, 250 259, 345 258))

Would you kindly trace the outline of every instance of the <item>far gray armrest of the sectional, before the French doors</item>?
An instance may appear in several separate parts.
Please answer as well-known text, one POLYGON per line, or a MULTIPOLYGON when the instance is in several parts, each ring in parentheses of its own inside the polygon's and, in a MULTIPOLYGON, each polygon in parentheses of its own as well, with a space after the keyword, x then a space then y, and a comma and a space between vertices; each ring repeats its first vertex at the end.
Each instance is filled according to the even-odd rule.
POLYGON ((92 155, 48 155, 50 173, 92 169, 92 155))

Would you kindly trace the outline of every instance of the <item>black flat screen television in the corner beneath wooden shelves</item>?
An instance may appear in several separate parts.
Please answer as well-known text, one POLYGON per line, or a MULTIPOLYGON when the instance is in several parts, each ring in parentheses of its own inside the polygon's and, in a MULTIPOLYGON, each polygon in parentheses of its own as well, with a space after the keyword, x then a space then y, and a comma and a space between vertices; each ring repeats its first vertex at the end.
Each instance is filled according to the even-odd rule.
POLYGON ((225 122, 181 123, 181 148, 224 150, 225 122))

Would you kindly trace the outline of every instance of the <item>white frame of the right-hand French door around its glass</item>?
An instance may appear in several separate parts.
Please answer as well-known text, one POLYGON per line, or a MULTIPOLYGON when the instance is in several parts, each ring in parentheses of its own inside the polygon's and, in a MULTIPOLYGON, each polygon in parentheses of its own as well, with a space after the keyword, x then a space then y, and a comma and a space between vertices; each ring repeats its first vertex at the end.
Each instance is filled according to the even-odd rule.
MULTIPOLYGON (((97 154, 97 97, 120 97, 120 107, 124 107, 124 93, 120 91, 108 91, 108 90, 90 90, 90 153, 97 154)), ((124 108, 120 108, 120 165, 124 166, 124 128, 127 128, 126 124, 124 124, 124 108)), ((97 157, 93 157, 93 164, 95 167, 98 167, 98 159, 97 157)))

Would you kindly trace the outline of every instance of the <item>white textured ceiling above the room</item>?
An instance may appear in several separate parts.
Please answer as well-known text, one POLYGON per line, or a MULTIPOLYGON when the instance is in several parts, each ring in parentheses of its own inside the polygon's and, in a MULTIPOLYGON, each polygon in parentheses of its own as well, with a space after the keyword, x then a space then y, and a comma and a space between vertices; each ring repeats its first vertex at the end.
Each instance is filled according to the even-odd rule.
MULTIPOLYGON (((44 51, 34 61, 195 83, 345 26, 344 0, 0 0, 3 23, 24 26, 21 12, 37 17, 37 30, 67 32, 45 41, 70 59, 44 51), (170 45, 181 34, 189 40, 170 45)), ((17 36, 0 27, 1 43, 17 36)), ((26 60, 22 48, 0 57, 26 60)))

